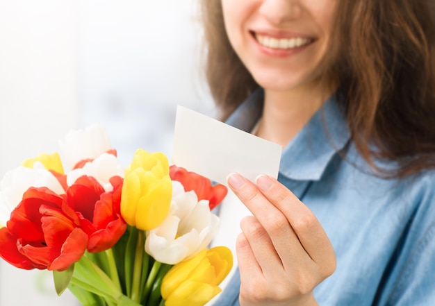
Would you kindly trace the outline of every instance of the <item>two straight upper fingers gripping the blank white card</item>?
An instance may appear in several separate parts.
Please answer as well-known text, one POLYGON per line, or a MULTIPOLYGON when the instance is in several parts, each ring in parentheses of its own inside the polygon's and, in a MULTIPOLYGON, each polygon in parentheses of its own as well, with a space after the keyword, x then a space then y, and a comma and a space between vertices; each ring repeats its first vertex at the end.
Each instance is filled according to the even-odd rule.
POLYGON ((284 185, 269 176, 259 176, 255 185, 235 173, 229 176, 228 182, 268 232, 285 268, 294 266, 293 256, 305 255, 321 266, 335 269, 334 250, 322 226, 311 210, 284 185))

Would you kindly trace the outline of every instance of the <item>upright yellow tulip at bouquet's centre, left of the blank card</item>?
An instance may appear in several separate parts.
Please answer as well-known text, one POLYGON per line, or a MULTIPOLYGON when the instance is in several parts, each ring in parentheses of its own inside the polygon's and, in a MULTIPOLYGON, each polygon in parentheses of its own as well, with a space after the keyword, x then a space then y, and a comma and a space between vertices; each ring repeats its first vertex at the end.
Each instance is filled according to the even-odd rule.
POLYGON ((140 230, 156 228, 167 216, 171 198, 172 181, 166 156, 138 149, 122 185, 121 214, 126 223, 140 230))

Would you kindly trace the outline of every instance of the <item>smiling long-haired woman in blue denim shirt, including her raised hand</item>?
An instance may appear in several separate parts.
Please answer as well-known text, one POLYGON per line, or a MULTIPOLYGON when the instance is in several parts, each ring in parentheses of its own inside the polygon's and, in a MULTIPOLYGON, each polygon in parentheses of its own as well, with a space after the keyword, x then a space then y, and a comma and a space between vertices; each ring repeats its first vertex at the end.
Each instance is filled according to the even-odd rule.
POLYGON ((252 216, 215 305, 435 305, 434 6, 202 1, 224 119, 284 147, 228 178, 252 216))

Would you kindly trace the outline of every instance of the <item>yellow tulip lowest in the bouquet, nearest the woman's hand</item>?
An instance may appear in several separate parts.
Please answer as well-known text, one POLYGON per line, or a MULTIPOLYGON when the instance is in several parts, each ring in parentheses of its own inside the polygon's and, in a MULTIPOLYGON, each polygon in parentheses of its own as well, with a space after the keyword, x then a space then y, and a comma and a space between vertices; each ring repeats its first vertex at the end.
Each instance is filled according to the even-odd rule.
POLYGON ((166 306, 202 306, 222 289, 217 287, 233 266, 231 250, 225 246, 202 250, 170 269, 162 282, 166 306))

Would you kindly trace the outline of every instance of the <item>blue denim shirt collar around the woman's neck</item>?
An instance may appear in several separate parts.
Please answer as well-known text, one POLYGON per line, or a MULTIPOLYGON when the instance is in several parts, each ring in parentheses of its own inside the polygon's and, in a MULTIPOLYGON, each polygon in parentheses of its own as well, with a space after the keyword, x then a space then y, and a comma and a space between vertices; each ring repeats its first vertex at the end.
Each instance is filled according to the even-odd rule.
MULTIPOLYGON (((264 94, 260 88, 227 119, 227 124, 250 132, 261 117, 264 94)), ((284 148, 280 175, 293 180, 320 180, 331 158, 350 139, 344 111, 332 95, 284 148)))

